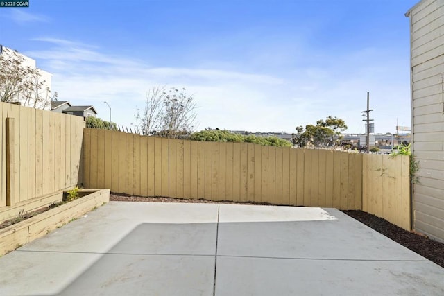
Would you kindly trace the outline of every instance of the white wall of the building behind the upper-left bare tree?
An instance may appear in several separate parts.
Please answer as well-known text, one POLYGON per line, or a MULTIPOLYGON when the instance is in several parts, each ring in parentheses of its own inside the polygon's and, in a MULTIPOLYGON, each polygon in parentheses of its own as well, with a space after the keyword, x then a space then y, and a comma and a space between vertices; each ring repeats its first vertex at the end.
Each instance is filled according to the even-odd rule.
MULTIPOLYGON (((15 51, 9 49, 6 46, 1 46, 0 54, 9 56, 12 55, 15 51)), ((15 52, 20 58, 23 59, 22 66, 23 67, 31 67, 32 69, 38 69, 35 64, 35 60, 32 58, 23 55, 22 53, 15 52)), ((25 101, 24 98, 17 98, 17 101, 22 103, 22 105, 26 107, 35 107, 37 109, 42 110, 51 110, 51 73, 46 72, 42 69, 38 69, 41 75, 39 82, 44 82, 42 88, 39 91, 40 96, 44 99, 42 102, 35 103, 35 100, 25 101)))

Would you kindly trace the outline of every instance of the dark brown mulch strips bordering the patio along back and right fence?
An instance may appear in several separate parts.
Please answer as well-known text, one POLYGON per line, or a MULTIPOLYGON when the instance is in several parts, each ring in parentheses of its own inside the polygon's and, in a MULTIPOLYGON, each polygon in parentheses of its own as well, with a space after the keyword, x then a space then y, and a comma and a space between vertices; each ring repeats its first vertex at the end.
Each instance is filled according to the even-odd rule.
MULTIPOLYGON (((187 202, 187 203, 228 203, 228 204, 256 204, 253 202, 228 202, 219 201, 213 202, 211 200, 187 200, 178 198, 164 198, 164 197, 140 197, 126 194, 111 193, 112 201, 123 202, 187 202)), ((266 204, 265 204, 266 205, 266 204)), ((430 261, 440 265, 444 268, 444 243, 433 241, 427 236, 417 234, 415 232, 408 232, 396 225, 389 223, 383 218, 368 214, 364 211, 343 211, 348 216, 355 218, 368 227, 375 229, 380 234, 384 234, 393 241, 404 245, 413 252, 424 256, 430 261)))

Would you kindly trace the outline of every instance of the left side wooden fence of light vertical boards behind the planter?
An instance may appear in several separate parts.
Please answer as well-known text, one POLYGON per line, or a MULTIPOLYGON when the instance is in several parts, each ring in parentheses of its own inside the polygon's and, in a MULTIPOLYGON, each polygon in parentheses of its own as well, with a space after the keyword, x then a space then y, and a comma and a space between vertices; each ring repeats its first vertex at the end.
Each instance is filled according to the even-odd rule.
POLYGON ((0 103, 0 119, 0 211, 82 183, 82 117, 0 103))

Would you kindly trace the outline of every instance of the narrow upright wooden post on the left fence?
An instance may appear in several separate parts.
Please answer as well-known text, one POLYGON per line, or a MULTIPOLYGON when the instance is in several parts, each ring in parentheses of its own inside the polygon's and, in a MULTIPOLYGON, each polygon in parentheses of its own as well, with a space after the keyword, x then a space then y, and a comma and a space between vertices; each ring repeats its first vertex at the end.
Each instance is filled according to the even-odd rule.
POLYGON ((6 118, 6 206, 15 204, 14 119, 6 118))

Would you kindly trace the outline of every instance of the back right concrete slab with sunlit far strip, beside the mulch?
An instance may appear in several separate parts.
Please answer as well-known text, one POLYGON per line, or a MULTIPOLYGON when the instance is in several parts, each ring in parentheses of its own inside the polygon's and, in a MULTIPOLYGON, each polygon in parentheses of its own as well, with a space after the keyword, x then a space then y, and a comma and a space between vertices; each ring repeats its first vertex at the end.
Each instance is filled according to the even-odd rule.
POLYGON ((262 206, 233 208, 221 204, 217 254, 298 259, 425 260, 337 209, 275 208, 286 215, 268 216, 266 222, 260 219, 250 222, 254 220, 252 217, 264 216, 270 209, 262 206), (305 211, 303 219, 300 211, 305 211))

